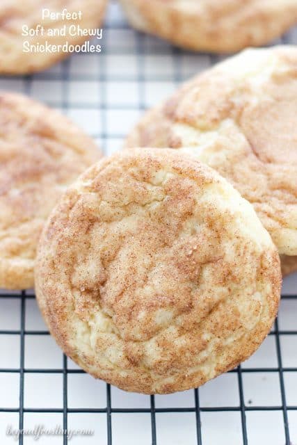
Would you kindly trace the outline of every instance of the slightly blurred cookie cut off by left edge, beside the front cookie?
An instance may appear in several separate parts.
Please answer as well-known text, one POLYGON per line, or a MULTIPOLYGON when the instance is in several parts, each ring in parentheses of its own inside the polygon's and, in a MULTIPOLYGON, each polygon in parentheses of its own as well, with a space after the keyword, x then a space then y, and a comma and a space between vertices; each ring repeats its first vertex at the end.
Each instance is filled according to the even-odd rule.
POLYGON ((58 197, 99 151, 67 118, 0 93, 0 287, 33 286, 35 250, 58 197))

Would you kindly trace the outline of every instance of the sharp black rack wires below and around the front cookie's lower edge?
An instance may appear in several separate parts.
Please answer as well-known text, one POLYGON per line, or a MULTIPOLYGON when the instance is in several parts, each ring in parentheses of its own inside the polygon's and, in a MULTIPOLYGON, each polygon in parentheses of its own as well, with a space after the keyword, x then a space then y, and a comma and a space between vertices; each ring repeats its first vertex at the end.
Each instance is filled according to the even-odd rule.
MULTIPOLYGON (((268 367, 268 368, 238 368, 229 371, 230 373, 236 373, 239 382, 239 400, 240 404, 238 406, 219 406, 219 407, 201 407, 199 402, 199 389, 193 389, 195 405, 193 407, 155 407, 154 396, 150 396, 150 407, 147 408, 114 408, 111 403, 111 386, 106 384, 106 407, 104 408, 71 408, 67 406, 67 375, 84 373, 81 369, 67 369, 67 357, 63 355, 63 364, 61 369, 29 369, 24 367, 24 343, 26 336, 30 335, 49 335, 49 332, 45 330, 25 330, 25 313, 26 313, 26 301, 35 298, 34 295, 26 293, 26 291, 21 291, 19 294, 6 293, 0 296, 0 298, 14 298, 20 300, 21 313, 20 313, 20 330, 0 330, 0 335, 19 335, 20 337, 20 357, 19 357, 19 368, 2 368, 0 373, 17 373, 19 374, 19 407, 8 408, 0 407, 1 412, 17 412, 19 414, 19 429, 24 428, 24 413, 62 413, 63 414, 63 429, 67 429, 67 414, 70 413, 105 413, 106 423, 107 423, 107 445, 112 444, 112 414, 113 413, 149 413, 151 416, 151 431, 152 431, 152 445, 159 444, 157 440, 156 431, 156 413, 163 412, 194 412, 196 419, 196 434, 197 434, 197 444, 202 445, 202 431, 201 431, 201 421, 200 414, 202 412, 240 412, 241 413, 241 429, 242 429, 242 443, 243 445, 248 445, 248 430, 246 426, 246 412, 248 411, 282 411, 284 419, 284 433, 285 433, 285 444, 291 445, 289 422, 287 413, 289 411, 297 411, 297 406, 287 405, 286 395, 284 391, 284 372, 297 372, 297 367, 284 367, 282 366, 282 354, 280 348, 280 336, 282 335, 297 335, 297 330, 280 330, 278 327, 278 321, 275 321, 275 328, 271 331, 269 335, 275 338, 277 356, 278 356, 278 366, 268 367), (271 406, 248 406, 245 405, 243 401, 243 373, 273 373, 278 372, 280 379, 280 390, 282 396, 281 405, 271 405, 271 406), (25 373, 61 373, 63 374, 63 407, 61 408, 27 408, 24 407, 24 374, 25 373)), ((294 296, 282 296, 283 300, 297 300, 297 295, 294 296)), ((19 437, 19 445, 23 444, 23 437, 19 437)), ((63 444, 67 445, 67 437, 63 437, 63 444)))

